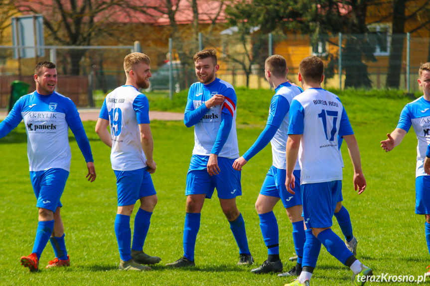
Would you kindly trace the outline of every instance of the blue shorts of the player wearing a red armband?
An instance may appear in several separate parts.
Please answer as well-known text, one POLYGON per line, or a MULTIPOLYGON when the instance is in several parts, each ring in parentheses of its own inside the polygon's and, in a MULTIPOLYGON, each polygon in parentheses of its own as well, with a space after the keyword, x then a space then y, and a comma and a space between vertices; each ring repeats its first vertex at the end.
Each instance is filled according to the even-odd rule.
POLYGON ((242 195, 241 172, 233 169, 234 160, 218 157, 218 167, 221 171, 214 176, 209 176, 206 169, 188 171, 185 195, 204 193, 206 198, 211 198, 215 188, 219 198, 235 198, 242 195))

